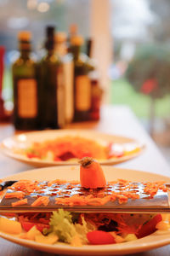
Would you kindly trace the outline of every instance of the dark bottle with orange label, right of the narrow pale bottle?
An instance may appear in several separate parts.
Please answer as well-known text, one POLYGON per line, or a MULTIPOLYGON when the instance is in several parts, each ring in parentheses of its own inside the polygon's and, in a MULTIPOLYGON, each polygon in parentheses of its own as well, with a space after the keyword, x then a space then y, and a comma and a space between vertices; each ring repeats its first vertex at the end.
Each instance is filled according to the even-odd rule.
POLYGON ((91 84, 88 73, 94 69, 87 55, 81 54, 83 38, 71 38, 71 53, 74 60, 75 121, 87 121, 91 108, 91 84))

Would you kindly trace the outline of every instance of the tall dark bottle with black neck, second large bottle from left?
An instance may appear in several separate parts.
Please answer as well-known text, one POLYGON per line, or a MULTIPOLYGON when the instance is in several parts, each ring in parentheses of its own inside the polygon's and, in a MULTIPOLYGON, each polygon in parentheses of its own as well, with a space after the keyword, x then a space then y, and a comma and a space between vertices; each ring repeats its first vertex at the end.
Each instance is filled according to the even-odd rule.
POLYGON ((38 63, 39 113, 42 129, 59 129, 65 123, 64 99, 60 93, 61 61, 54 52, 54 26, 46 28, 46 55, 38 63))

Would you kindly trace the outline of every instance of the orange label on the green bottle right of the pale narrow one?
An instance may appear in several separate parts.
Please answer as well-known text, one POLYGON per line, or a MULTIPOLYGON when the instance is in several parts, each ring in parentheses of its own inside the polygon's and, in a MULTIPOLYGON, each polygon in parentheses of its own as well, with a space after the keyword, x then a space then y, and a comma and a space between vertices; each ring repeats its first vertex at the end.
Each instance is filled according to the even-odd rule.
POLYGON ((88 76, 76 77, 76 109, 88 111, 91 107, 91 86, 88 76))

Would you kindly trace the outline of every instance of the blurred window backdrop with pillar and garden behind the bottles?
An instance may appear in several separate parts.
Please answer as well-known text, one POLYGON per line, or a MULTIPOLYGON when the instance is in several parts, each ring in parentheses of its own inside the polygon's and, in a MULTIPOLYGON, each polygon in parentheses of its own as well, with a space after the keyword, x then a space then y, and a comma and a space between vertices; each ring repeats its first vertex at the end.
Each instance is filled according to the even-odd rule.
POLYGON ((132 108, 170 162, 169 22, 169 0, 0 0, 5 108, 13 108, 11 66, 19 56, 18 32, 31 31, 32 55, 38 59, 45 26, 68 33, 77 24, 78 32, 94 42, 103 102, 132 108))

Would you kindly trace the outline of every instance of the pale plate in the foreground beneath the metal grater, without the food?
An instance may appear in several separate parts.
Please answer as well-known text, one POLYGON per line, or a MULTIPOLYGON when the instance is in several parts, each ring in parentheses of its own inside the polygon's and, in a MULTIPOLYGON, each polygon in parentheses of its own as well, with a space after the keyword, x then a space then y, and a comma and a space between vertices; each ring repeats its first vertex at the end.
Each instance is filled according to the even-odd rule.
MULTIPOLYGON (((134 170, 118 169, 111 166, 103 166, 105 171, 105 177, 109 181, 116 178, 124 178, 131 181, 163 181, 170 182, 169 177, 164 177, 149 172, 138 172, 134 170)), ((4 178, 4 180, 18 180, 18 179, 39 179, 40 180, 54 180, 55 178, 65 180, 77 180, 79 179, 79 166, 55 166, 42 169, 36 169, 27 172, 20 172, 10 177, 4 178)), ((69 245, 56 244, 45 245, 37 243, 35 241, 28 241, 20 239, 3 232, 0 232, 0 236, 8 241, 13 241, 17 244, 31 247, 48 253, 62 253, 68 255, 122 255, 127 253, 139 253, 146 250, 150 250, 156 247, 165 246, 170 243, 170 231, 156 231, 156 233, 146 236, 136 241, 129 241, 120 244, 112 245, 100 245, 100 246, 82 246, 71 247, 69 245)))

